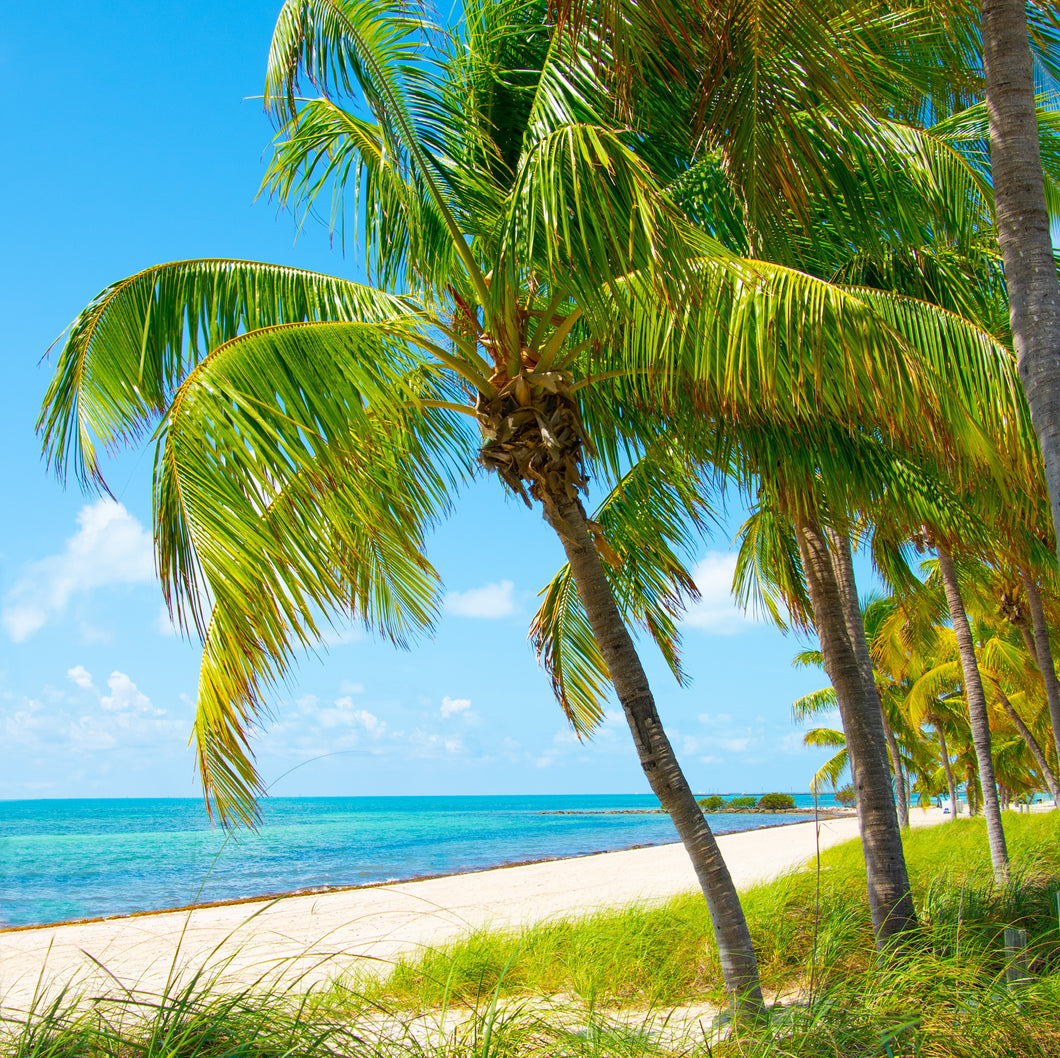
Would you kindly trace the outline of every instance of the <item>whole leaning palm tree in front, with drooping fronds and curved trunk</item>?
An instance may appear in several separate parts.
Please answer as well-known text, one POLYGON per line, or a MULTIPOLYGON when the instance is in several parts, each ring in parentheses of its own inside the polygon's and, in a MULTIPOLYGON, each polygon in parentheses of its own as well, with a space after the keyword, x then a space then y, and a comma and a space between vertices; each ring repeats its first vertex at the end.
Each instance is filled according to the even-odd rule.
MULTIPOLYGON (((689 225, 608 122, 588 58, 605 40, 560 39, 544 8, 471 0, 445 34, 411 5, 288 0, 268 183, 306 207, 331 193, 336 211, 352 193, 378 286, 241 261, 146 269, 74 321, 40 428, 60 473, 103 486, 101 449, 158 423, 159 569, 204 639, 195 739, 225 821, 255 818, 254 717, 325 622, 352 615, 398 642, 430 628, 426 534, 462 480, 484 466, 541 510, 695 867, 726 987, 757 1016, 739 899, 616 603, 620 541, 586 516, 586 481, 616 483, 659 448, 690 390, 748 424, 820 416, 936 438, 959 421, 938 354, 992 347, 913 303, 884 318, 689 225), (299 77, 319 96, 300 99, 299 77)), ((599 713, 571 717, 587 730, 599 713)))

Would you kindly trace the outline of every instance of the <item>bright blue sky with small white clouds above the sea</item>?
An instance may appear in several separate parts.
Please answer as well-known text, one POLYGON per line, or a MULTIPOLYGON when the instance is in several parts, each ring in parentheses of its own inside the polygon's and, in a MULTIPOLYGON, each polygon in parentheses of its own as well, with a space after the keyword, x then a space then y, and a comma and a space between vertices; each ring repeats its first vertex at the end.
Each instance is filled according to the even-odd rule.
MULTIPOLYGON (((148 449, 110 465, 117 499, 64 490, 34 422, 41 357, 108 282, 162 261, 238 257, 357 276, 357 253, 255 200, 261 92, 279 0, 67 3, 5 17, 7 204, 0 290, 0 798, 193 796, 198 650, 173 634, 151 549, 148 449)), ((730 521, 739 524, 740 512, 730 521)), ((624 722, 566 729, 526 641, 562 561, 540 516, 483 480, 437 533, 446 613, 399 652, 339 630, 273 695, 257 742, 278 794, 646 792, 624 722)), ((693 677, 649 648, 696 790, 806 790, 798 642, 738 613, 726 532, 704 546, 687 621, 693 677)))

